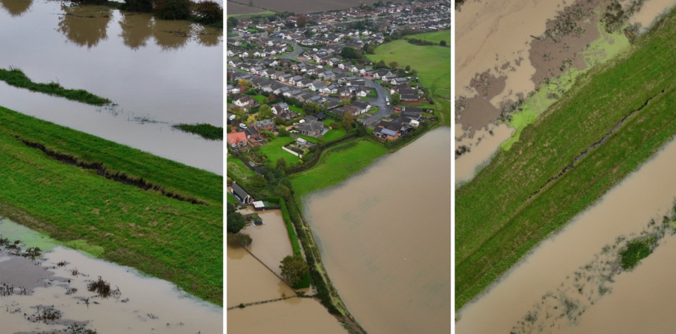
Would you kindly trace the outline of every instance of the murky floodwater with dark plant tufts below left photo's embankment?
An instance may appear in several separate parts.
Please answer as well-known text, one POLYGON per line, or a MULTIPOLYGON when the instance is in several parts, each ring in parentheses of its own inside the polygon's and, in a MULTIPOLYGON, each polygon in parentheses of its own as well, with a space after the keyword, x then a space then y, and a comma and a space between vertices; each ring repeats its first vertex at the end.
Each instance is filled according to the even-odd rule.
POLYGON ((49 250, 37 262, 0 252, 0 282, 15 287, 14 293, 0 296, 2 333, 53 333, 72 325, 99 333, 223 333, 222 307, 187 295, 167 281, 63 248, 6 219, 0 230, 5 238, 20 238, 26 248, 49 250), (57 265, 63 261, 64 266, 57 265), (87 283, 98 276, 120 293, 104 298, 89 292, 87 283), (56 310, 58 319, 35 321, 44 306, 56 310))

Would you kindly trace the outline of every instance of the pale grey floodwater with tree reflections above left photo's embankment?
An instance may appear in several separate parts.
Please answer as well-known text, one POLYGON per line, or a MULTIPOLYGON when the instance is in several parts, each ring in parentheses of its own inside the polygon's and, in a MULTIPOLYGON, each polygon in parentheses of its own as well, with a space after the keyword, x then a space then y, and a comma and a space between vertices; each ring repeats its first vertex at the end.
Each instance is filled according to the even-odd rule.
POLYGON ((223 174, 222 141, 170 128, 223 126, 223 30, 101 6, 2 0, 0 40, 0 68, 118 104, 99 108, 1 82, 0 105, 223 174))

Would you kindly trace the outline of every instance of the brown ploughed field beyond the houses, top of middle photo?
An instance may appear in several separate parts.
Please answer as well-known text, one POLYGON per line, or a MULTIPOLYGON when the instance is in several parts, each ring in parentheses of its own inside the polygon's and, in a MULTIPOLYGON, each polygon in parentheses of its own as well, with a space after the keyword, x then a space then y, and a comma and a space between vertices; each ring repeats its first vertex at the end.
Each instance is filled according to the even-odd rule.
MULTIPOLYGON (((401 4, 405 2, 403 0, 394 0, 394 4, 401 4)), ((228 13, 230 14, 230 6, 233 4, 232 1, 227 1, 228 13)), ((239 4, 239 3, 238 3, 239 4)), ((242 3, 243 4, 243 3, 242 3)), ((291 1, 275 1, 275 0, 253 0, 253 6, 258 8, 269 9, 270 11, 284 12, 292 11, 294 13, 319 13, 323 11, 332 11, 336 9, 346 9, 354 6, 359 6, 363 4, 363 1, 359 0, 318 0, 318 1, 304 1, 304 0, 291 0, 291 1)), ((244 5, 242 5, 244 6, 244 5)), ((249 7, 249 6, 244 6, 249 7)), ((234 12, 233 12, 234 13, 234 12)))

